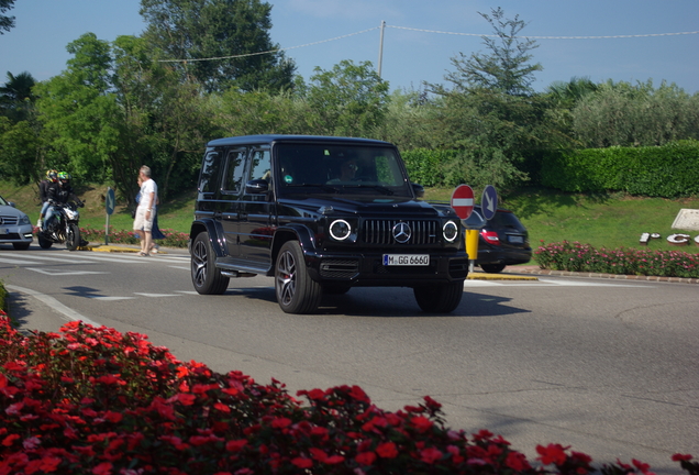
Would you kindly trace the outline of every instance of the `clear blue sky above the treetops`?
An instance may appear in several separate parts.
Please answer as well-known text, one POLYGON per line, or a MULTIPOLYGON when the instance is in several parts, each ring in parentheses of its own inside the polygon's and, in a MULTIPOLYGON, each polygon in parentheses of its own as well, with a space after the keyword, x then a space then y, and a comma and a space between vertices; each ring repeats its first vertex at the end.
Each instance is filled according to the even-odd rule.
MULTIPOLYGON (((271 38, 289 48, 287 56, 307 81, 314 67, 329 70, 343 59, 377 66, 379 26, 386 21, 381 76, 391 90, 444 82, 444 75, 453 70, 452 57, 488 53, 480 35, 492 30, 478 12, 502 7, 506 18, 519 14, 528 23, 522 34, 529 36, 634 35, 537 38, 533 60, 544 69, 535 76, 536 90, 556 80, 589 77, 596 82, 652 79, 656 86, 666 80, 689 93, 699 92, 699 34, 662 35, 699 31, 698 0, 269 2, 271 38)), ((107 41, 140 34, 144 23, 138 7, 138 0, 16 0, 9 12, 16 26, 0 35, 0 82, 7 80, 7 71, 29 71, 37 80, 60 74, 69 58, 66 45, 84 33, 107 41)))

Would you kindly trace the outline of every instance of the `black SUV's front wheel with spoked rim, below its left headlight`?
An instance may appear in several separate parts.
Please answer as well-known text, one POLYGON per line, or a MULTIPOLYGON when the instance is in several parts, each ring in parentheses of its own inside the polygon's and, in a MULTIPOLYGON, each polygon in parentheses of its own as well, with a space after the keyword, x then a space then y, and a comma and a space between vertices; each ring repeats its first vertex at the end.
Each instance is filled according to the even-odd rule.
POLYGON ((303 251, 297 241, 286 242, 275 265, 277 302, 286 313, 311 313, 323 296, 321 285, 308 275, 303 251))

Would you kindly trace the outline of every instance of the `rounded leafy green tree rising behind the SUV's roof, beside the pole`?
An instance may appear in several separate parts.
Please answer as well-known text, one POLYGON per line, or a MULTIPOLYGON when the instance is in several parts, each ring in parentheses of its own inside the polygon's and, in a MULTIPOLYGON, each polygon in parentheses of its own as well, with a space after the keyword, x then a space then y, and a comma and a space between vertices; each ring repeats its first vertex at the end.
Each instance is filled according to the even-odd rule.
POLYGON ((371 62, 342 60, 331 71, 317 67, 308 88, 311 128, 319 134, 371 136, 388 103, 388 82, 371 62))

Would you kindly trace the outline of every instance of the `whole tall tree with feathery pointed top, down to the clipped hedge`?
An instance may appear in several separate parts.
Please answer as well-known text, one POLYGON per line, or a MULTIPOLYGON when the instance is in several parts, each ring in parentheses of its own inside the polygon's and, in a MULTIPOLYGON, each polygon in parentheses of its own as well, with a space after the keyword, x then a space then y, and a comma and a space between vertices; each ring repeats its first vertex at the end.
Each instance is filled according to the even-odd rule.
POLYGON ((507 188, 528 179, 518 164, 542 143, 546 102, 531 89, 533 74, 542 67, 530 64, 529 52, 535 43, 518 37, 525 26, 519 16, 506 20, 500 8, 491 16, 480 15, 491 24, 499 43, 486 36, 490 54, 466 58, 461 53, 453 58, 456 70, 445 77, 451 89, 428 85, 440 104, 433 133, 437 146, 462 151, 445 176, 461 174, 462 183, 507 188))

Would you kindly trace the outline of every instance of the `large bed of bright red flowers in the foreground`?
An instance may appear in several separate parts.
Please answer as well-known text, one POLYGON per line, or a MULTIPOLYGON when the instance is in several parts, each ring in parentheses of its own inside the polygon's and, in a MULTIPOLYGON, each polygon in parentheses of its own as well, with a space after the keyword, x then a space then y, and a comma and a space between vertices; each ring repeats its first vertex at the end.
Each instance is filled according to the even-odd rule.
MULTIPOLYGON (((3 313, 4 314, 4 313, 3 313)), ((430 397, 389 412, 357 386, 299 391, 177 361, 137 333, 80 322, 24 336, 0 317, 0 475, 578 474, 559 444, 536 461, 444 426, 430 397)), ((691 455, 674 460, 691 475, 691 455)), ((604 475, 650 474, 633 460, 604 475)))

